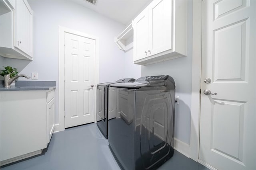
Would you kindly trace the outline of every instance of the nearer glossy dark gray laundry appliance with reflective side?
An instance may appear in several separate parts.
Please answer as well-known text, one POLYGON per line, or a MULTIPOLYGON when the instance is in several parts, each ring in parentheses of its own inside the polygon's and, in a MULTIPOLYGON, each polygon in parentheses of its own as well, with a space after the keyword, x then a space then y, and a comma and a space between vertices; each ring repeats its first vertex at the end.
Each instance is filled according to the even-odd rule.
POLYGON ((116 117, 108 121, 108 143, 124 170, 153 170, 174 154, 175 82, 147 76, 110 84, 117 92, 116 117))

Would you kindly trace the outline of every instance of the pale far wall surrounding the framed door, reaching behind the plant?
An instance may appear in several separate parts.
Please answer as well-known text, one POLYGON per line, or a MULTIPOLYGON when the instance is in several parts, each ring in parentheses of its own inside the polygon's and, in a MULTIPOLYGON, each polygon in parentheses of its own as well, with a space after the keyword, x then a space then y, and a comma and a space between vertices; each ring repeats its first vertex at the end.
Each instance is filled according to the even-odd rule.
POLYGON ((32 0, 29 4, 34 11, 34 59, 26 61, 1 57, 1 69, 10 65, 17 67, 20 74, 31 76, 32 72, 38 72, 38 80, 56 81, 55 120, 58 123, 59 26, 99 37, 99 82, 110 82, 124 77, 124 52, 118 49, 114 37, 123 31, 125 25, 72 1, 32 0))

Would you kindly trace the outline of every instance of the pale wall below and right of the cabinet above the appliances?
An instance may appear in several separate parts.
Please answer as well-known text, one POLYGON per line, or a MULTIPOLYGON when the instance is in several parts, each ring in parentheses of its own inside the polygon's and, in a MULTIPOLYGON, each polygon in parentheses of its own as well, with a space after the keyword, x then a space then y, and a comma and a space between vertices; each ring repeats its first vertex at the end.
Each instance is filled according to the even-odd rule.
POLYGON ((193 2, 188 1, 188 55, 161 63, 142 66, 142 76, 168 74, 174 78, 176 96, 180 96, 180 104, 175 105, 175 137, 188 145, 190 144, 191 119, 192 7, 193 2))

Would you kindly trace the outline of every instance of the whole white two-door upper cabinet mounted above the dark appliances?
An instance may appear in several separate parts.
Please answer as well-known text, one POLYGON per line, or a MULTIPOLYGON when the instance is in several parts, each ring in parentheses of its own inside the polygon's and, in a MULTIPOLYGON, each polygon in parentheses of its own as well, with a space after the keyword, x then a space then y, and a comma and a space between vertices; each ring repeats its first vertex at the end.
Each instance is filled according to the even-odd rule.
POLYGON ((186 56, 186 1, 154 0, 133 21, 134 63, 186 56))

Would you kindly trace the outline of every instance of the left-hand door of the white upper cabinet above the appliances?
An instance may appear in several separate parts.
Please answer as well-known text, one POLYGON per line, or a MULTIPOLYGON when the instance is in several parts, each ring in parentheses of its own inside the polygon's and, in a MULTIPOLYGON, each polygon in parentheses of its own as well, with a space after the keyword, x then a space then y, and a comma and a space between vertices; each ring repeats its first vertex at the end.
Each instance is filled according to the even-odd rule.
POLYGON ((148 10, 142 11, 133 21, 134 60, 148 56, 148 10))

